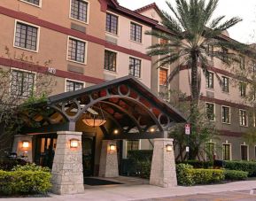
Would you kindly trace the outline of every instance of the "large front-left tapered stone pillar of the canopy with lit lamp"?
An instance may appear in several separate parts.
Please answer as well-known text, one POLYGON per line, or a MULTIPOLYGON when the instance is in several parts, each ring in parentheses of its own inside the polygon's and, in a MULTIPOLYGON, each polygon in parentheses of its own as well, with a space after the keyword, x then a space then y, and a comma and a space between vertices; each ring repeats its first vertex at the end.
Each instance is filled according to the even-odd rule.
POLYGON ((83 172, 81 157, 81 132, 58 131, 55 156, 52 165, 52 189, 55 194, 83 193, 83 172), (78 141, 76 148, 71 148, 70 140, 78 141))

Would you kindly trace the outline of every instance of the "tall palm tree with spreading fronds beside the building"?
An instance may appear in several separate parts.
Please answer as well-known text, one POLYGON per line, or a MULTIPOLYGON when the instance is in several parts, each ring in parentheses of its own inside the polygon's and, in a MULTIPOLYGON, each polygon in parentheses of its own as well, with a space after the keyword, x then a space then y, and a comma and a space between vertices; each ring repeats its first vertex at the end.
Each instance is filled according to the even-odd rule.
MULTIPOLYGON (((216 10, 218 0, 175 0, 175 7, 167 2, 170 9, 168 12, 162 11, 162 24, 167 27, 172 34, 166 34, 156 30, 147 31, 147 35, 157 37, 167 43, 156 43, 149 47, 149 56, 159 56, 156 63, 160 66, 167 64, 178 64, 172 70, 168 81, 171 81, 176 73, 179 73, 181 66, 188 66, 190 69, 190 137, 195 139, 200 137, 200 121, 198 114, 198 102, 200 97, 200 69, 208 73, 209 58, 219 58, 224 64, 229 66, 233 61, 237 61, 237 55, 229 53, 227 49, 246 52, 247 46, 234 41, 221 39, 220 35, 229 27, 235 26, 242 19, 237 17, 224 20, 225 16, 212 19, 216 10), (213 47, 213 48, 211 48, 213 47)), ((197 147, 190 147, 194 158, 198 152, 197 147), (194 150, 193 150, 194 149, 194 150)))

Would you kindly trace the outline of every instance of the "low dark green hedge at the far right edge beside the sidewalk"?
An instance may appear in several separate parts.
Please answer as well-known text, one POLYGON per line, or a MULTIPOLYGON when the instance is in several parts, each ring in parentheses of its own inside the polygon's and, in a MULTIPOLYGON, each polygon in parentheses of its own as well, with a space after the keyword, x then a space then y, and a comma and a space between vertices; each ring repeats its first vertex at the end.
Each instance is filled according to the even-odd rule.
POLYGON ((225 161, 225 168, 248 172, 249 177, 256 176, 256 162, 252 161, 225 161))

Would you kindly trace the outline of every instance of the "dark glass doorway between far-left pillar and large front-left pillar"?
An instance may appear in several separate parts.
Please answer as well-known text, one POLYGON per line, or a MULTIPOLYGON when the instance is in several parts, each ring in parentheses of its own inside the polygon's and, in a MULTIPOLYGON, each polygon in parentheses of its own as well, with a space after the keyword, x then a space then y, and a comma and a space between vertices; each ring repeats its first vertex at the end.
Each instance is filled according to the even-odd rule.
POLYGON ((35 146, 35 164, 52 167, 57 135, 38 135, 35 146))

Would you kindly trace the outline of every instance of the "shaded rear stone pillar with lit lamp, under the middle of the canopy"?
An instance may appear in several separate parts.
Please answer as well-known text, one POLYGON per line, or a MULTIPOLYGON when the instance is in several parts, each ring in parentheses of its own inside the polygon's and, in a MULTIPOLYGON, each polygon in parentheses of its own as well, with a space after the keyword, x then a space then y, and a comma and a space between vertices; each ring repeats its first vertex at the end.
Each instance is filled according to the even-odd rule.
POLYGON ((116 141, 111 141, 111 140, 102 141, 98 176, 101 176, 101 177, 118 177, 119 176, 116 141), (114 146, 115 150, 111 150, 111 146, 114 146))

